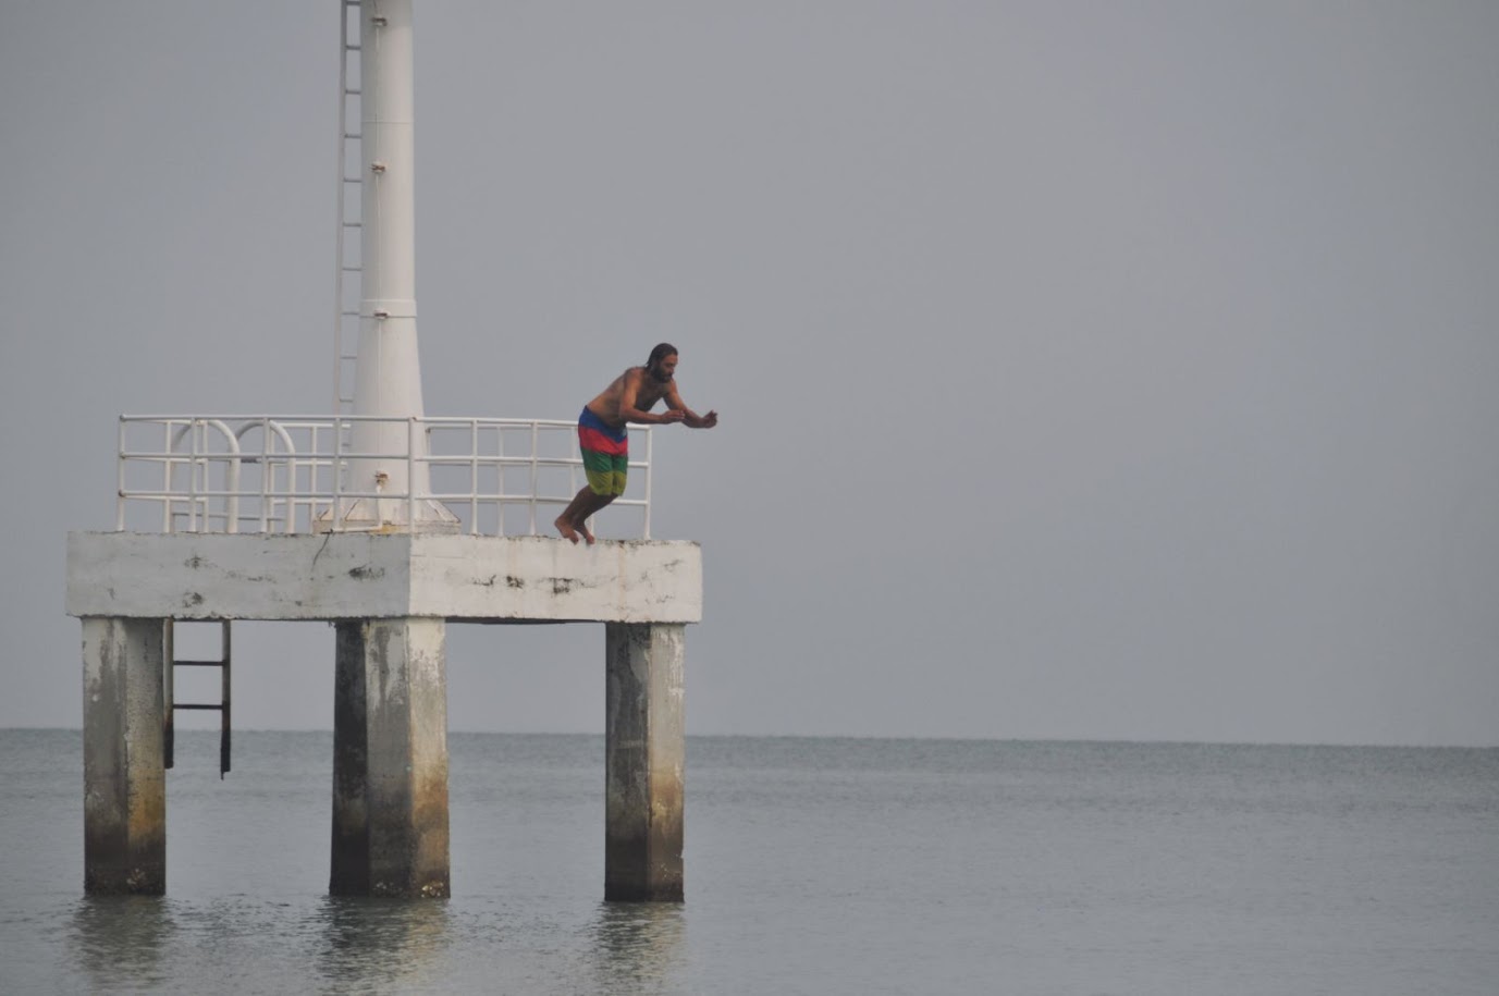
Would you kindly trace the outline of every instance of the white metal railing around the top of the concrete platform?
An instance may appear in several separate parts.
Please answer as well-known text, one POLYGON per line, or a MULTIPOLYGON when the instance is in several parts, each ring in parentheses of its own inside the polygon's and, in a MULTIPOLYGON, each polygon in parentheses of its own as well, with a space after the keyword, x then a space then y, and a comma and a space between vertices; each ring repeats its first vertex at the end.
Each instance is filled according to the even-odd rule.
MULTIPOLYGON (((609 506, 637 510, 642 538, 651 538, 649 429, 630 428, 631 496, 609 506)), ((577 423, 547 418, 120 416, 118 453, 115 530, 139 532, 367 531, 346 512, 378 500, 406 502, 406 522, 430 501, 472 536, 538 536, 555 518, 538 520, 538 507, 567 506, 586 480, 577 423), (354 450, 357 423, 405 426, 406 446, 354 450), (405 480, 426 488, 354 490, 352 460, 403 462, 405 480)))

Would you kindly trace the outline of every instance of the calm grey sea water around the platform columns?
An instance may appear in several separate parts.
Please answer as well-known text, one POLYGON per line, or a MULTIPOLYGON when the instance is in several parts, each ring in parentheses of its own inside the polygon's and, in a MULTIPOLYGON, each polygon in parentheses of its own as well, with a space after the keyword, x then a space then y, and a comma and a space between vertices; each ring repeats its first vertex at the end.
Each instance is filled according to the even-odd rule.
POLYGON ((0 730, 0 993, 1499 993, 1499 750, 691 738, 687 903, 601 902, 600 736, 450 738, 453 898, 333 900, 330 734, 180 734, 82 896, 0 730))

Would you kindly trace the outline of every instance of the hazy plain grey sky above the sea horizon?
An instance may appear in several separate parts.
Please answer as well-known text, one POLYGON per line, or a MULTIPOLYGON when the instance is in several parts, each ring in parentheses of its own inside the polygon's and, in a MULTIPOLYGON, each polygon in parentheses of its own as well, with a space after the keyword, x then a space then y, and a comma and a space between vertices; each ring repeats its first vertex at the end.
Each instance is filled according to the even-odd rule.
MULTIPOLYGON (((120 412, 331 408, 337 8, 0 0, 0 726, 81 722, 120 412)), ((415 18, 429 414, 661 339, 723 414, 690 732, 1499 744, 1499 6, 415 18)), ((451 729, 603 729, 601 626, 448 636, 451 729)))

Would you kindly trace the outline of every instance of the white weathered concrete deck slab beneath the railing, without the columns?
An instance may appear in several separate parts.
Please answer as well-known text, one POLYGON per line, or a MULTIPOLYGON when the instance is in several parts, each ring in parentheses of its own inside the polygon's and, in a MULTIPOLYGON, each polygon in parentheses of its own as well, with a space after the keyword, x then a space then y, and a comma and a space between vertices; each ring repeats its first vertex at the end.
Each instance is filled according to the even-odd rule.
POLYGON ((690 542, 70 532, 67 614, 175 620, 699 622, 690 542))

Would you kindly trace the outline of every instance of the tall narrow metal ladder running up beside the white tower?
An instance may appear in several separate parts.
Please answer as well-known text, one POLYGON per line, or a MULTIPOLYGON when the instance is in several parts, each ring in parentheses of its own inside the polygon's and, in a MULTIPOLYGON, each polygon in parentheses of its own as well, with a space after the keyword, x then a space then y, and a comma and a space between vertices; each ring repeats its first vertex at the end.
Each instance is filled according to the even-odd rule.
POLYGON ((333 412, 337 416, 354 414, 354 363, 364 280, 360 16, 360 0, 339 0, 339 240, 334 276, 337 320, 333 327, 333 412))

